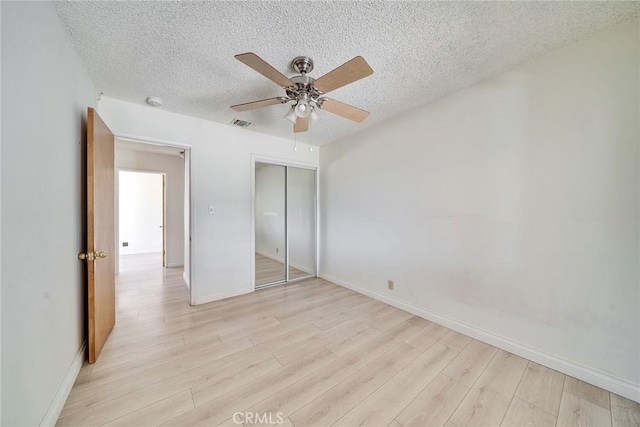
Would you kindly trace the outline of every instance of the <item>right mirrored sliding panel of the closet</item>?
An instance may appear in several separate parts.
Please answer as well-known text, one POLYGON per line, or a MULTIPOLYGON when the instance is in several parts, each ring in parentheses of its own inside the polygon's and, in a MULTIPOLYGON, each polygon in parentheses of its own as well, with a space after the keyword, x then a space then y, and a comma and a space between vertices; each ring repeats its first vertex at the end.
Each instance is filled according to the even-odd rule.
POLYGON ((288 169, 289 280, 295 280, 316 275, 316 172, 288 169))

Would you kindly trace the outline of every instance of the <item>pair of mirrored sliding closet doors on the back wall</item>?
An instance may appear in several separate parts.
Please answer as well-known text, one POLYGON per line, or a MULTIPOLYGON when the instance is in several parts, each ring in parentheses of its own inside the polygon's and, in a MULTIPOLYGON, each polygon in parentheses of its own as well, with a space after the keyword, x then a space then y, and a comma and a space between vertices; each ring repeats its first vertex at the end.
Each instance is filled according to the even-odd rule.
POLYGON ((316 171, 255 164, 256 288, 315 277, 316 171))

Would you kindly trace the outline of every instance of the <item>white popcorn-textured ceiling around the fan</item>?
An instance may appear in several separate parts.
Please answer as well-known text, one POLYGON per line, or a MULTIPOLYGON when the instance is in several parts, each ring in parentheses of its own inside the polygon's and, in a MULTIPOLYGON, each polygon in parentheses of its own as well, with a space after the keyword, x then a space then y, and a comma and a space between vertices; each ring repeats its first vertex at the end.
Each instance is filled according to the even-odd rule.
MULTIPOLYGON (((371 112, 362 124, 328 112, 298 141, 322 145, 469 86, 632 16, 638 2, 57 2, 106 96, 292 139, 287 106, 230 105, 284 91, 233 55, 254 52, 287 76, 313 58, 318 78, 356 55, 374 74, 331 92, 371 112), (311 139, 309 139, 311 138, 311 139)), ((151 108, 151 107, 150 107, 151 108)))

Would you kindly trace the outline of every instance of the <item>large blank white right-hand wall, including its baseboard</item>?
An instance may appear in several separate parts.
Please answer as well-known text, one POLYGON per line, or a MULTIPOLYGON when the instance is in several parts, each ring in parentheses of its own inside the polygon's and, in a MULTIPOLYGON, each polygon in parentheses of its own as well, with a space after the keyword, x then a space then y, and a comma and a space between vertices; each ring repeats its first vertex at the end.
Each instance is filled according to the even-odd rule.
POLYGON ((323 276, 638 400, 638 39, 323 146, 323 276))

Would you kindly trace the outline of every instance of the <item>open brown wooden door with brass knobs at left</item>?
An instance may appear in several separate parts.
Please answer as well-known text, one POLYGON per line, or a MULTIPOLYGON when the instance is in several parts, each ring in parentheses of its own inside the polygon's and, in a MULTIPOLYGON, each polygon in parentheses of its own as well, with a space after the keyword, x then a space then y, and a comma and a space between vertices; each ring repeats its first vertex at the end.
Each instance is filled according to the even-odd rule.
POLYGON ((89 363, 94 363, 116 321, 113 133, 98 113, 87 113, 87 272, 89 363))

